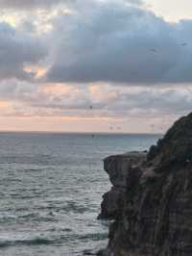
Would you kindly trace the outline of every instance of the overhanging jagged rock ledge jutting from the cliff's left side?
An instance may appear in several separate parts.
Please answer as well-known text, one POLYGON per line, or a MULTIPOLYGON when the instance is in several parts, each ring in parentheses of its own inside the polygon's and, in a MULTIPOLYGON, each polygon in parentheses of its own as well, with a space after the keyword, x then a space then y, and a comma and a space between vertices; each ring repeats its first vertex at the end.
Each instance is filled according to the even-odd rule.
POLYGON ((118 216, 127 186, 135 186, 142 171, 139 168, 145 159, 146 152, 130 152, 129 154, 110 156, 104 161, 113 187, 103 195, 101 214, 98 218, 115 218, 118 216))

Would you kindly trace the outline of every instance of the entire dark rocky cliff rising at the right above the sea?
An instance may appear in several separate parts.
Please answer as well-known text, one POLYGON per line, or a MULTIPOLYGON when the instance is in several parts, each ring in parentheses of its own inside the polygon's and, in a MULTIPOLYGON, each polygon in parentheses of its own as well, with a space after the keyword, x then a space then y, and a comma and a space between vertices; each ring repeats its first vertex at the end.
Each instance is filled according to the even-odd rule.
POLYGON ((149 153, 105 160, 112 189, 99 218, 112 218, 106 256, 192 255, 192 114, 149 153))

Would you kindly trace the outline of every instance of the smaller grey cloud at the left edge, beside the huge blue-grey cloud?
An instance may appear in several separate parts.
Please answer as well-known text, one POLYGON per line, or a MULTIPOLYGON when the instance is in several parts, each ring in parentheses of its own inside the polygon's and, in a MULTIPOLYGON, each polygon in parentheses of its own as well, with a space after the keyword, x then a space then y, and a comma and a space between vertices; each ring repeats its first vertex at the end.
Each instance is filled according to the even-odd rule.
POLYGON ((0 79, 16 77, 32 79, 35 74, 24 71, 25 65, 37 64, 45 57, 45 47, 38 38, 0 23, 0 79))

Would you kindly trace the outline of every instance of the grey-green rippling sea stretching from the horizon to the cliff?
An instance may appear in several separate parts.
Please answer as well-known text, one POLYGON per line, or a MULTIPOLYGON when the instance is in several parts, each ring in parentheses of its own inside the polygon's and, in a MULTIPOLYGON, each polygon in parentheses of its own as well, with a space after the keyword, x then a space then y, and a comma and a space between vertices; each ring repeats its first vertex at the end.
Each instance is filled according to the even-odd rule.
POLYGON ((160 135, 0 133, 0 255, 83 256, 108 243, 97 220, 103 159, 160 135))

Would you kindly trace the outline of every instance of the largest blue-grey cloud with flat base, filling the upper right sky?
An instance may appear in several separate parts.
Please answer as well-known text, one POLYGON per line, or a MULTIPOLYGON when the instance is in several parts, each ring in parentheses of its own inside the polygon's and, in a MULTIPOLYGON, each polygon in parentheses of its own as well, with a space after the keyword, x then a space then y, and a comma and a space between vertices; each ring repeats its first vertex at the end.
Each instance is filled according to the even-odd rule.
POLYGON ((49 81, 192 81, 191 20, 170 24, 125 1, 86 1, 76 14, 58 17, 54 26, 58 45, 49 81))

